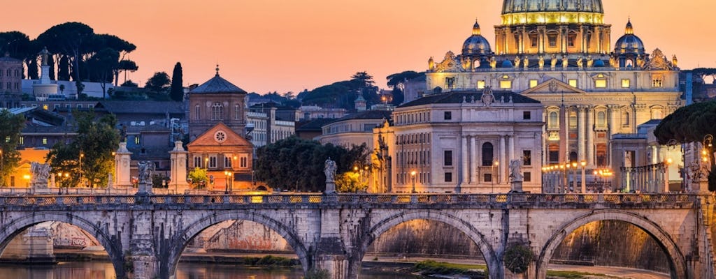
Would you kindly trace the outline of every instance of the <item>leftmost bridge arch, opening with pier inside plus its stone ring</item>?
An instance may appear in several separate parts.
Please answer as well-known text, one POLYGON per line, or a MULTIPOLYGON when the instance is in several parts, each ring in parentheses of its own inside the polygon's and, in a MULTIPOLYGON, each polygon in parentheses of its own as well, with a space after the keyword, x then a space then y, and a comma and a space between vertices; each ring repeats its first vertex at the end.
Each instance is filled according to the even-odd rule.
POLYGON ((125 278, 122 245, 84 218, 54 212, 13 218, 0 231, 0 261, 6 278, 74 278, 91 273, 98 278, 125 278), (48 265, 58 263, 57 265, 48 265))

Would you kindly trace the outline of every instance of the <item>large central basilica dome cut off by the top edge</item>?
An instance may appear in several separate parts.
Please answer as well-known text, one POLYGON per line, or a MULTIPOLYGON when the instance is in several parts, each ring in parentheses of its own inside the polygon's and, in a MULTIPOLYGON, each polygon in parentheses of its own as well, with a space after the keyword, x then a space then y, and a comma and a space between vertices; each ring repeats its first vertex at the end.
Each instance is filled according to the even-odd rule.
POLYGON ((504 0, 502 24, 603 24, 601 0, 504 0))

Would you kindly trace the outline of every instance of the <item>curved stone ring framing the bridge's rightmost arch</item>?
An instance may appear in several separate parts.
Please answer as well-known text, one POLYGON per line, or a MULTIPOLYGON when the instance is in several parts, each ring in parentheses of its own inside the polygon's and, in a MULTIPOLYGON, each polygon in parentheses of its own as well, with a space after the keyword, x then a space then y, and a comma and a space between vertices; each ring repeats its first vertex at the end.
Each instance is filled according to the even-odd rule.
POLYGON ((556 233, 553 233, 553 235, 551 235, 551 237, 547 240, 544 247, 540 251, 539 257, 537 259, 537 278, 546 278, 547 266, 549 264, 549 260, 551 260, 552 258, 554 250, 556 250, 559 244, 562 243, 562 240, 564 240, 564 238, 566 238, 569 233, 573 232, 574 230, 580 228, 583 225, 601 220, 619 220, 630 223, 632 225, 636 225, 637 227, 641 228, 642 230, 647 232, 647 234, 652 236, 654 240, 657 240, 657 243, 662 247, 664 253, 666 253, 667 258, 669 259, 669 270, 671 270, 671 277, 674 279, 688 277, 687 264, 683 253, 681 252, 681 250, 679 250, 679 247, 671 238, 669 233, 659 227, 657 223, 654 223, 651 220, 648 220, 647 218, 644 218, 640 215, 630 213, 624 210, 598 210, 586 215, 581 215, 578 218, 571 220, 571 222, 566 223, 561 228, 556 230, 556 233))

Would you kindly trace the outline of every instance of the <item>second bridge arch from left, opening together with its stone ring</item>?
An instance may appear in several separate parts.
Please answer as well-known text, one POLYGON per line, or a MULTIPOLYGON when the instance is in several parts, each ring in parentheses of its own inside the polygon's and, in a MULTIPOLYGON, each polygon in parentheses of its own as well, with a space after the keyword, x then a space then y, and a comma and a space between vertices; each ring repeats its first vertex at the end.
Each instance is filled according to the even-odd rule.
POLYGON ((310 264, 291 229, 266 215, 238 210, 198 220, 169 249, 168 263, 160 263, 161 278, 301 278, 310 264))

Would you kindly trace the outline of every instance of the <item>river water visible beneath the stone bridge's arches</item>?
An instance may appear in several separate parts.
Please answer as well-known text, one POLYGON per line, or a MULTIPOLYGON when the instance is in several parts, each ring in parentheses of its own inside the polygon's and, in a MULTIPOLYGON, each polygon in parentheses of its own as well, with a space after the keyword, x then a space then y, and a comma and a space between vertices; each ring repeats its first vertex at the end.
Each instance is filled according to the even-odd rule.
MULTIPOLYGON (((248 268, 241 265, 180 263, 177 279, 296 279, 301 268, 248 268)), ((363 270, 361 279, 422 279, 405 273, 363 270)), ((57 265, 0 265, 0 279, 115 279, 112 263, 71 262, 57 265)))

